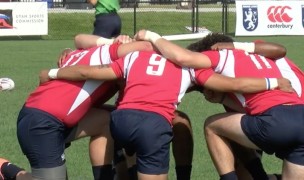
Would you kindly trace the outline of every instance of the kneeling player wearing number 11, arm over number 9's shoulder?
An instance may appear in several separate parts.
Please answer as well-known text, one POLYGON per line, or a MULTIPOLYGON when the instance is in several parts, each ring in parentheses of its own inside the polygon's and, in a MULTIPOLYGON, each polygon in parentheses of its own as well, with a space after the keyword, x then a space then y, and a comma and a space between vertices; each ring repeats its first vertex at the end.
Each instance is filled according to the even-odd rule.
MULTIPOLYGON (((210 67, 195 72, 199 74, 197 78, 199 84, 204 86, 210 84, 213 82, 211 78, 214 73, 220 73, 230 77, 264 77, 267 89, 272 90, 259 93, 232 93, 224 88, 217 88, 217 91, 229 92, 229 95, 246 109, 246 114, 217 114, 209 117, 205 122, 208 149, 220 179, 237 179, 233 154, 227 140, 269 154, 275 153, 284 162, 283 179, 303 177, 304 161, 301 158, 303 141, 298 136, 303 131, 304 101, 295 92, 287 93, 273 87, 273 78, 282 77, 275 62, 240 50, 201 52, 198 47, 195 48, 198 53, 195 53, 160 38, 156 33, 150 31, 140 33, 139 39, 150 40, 165 57, 177 64, 193 68, 210 67), (210 61, 206 62, 206 59, 210 61), (284 138, 280 133, 282 129, 287 131, 284 133, 286 134, 284 138)), ((212 35, 216 36, 216 34, 210 36, 212 35)))

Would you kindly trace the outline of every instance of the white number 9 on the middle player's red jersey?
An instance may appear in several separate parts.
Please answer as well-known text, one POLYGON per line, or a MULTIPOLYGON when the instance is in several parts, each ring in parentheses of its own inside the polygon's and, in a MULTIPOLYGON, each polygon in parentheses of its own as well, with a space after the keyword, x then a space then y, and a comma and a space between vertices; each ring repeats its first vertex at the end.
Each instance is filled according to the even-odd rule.
POLYGON ((167 59, 153 54, 149 60, 149 66, 147 67, 146 73, 154 76, 161 76, 164 72, 167 59))

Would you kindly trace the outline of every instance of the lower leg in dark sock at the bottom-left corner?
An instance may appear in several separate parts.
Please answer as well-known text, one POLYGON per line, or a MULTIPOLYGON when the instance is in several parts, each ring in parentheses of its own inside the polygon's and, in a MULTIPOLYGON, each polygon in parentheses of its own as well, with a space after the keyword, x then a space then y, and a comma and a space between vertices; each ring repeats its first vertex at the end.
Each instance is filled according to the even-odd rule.
POLYGON ((0 180, 5 179, 31 180, 32 175, 8 160, 0 158, 0 180))

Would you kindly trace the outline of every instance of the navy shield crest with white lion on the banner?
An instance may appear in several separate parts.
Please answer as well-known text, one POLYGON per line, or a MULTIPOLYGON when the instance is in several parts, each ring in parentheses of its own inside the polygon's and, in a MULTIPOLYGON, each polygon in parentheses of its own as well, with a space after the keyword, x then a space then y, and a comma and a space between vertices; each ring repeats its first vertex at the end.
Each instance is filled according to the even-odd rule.
POLYGON ((258 26, 258 8, 257 5, 244 5, 243 11, 243 27, 247 31, 254 31, 258 26))

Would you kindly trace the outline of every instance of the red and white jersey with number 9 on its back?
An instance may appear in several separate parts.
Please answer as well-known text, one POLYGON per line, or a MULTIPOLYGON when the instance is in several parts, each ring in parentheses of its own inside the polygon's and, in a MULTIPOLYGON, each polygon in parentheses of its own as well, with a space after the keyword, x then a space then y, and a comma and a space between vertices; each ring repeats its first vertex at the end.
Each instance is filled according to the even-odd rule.
POLYGON ((156 112, 171 124, 173 113, 191 84, 188 68, 146 51, 130 53, 111 67, 126 80, 118 109, 156 112))

